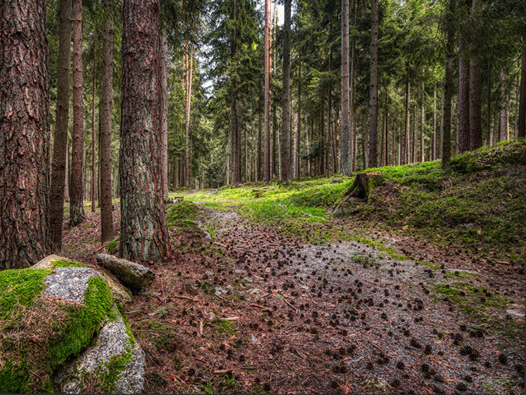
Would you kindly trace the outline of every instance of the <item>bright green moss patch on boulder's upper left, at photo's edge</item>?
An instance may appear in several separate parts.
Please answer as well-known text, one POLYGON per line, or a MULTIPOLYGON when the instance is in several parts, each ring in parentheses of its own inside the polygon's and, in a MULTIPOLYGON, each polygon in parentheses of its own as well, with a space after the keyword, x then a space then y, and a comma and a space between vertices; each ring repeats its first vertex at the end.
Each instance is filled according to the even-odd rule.
POLYGON ((50 269, 0 271, 0 320, 9 318, 15 305, 29 306, 50 274, 50 269))

